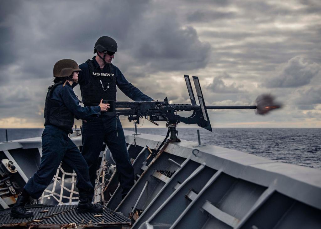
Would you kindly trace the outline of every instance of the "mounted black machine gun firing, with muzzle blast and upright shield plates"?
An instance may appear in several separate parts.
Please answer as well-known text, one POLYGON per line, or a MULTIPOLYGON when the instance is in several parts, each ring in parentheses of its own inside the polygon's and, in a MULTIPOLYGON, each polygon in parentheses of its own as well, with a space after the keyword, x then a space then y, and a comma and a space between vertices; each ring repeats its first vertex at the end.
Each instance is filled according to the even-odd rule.
POLYGON ((188 75, 184 75, 191 104, 169 104, 167 97, 164 101, 151 101, 151 102, 114 102, 103 101, 103 103, 109 103, 110 108, 106 115, 119 116, 126 115, 130 122, 134 121, 139 124, 139 118, 145 117, 152 123, 158 125, 157 121, 166 121, 166 127, 168 127, 169 136, 173 141, 180 141, 176 134, 176 125, 180 122, 186 124, 197 124, 206 130, 212 131, 210 119, 207 114, 209 109, 257 109, 257 114, 266 114, 268 111, 274 108, 279 108, 280 105, 273 104, 273 98, 265 95, 265 97, 257 98, 256 106, 206 106, 203 93, 200 87, 198 77, 193 76, 193 81, 196 89, 199 106, 196 105, 193 89, 188 75), (267 97, 267 98, 266 98, 267 97), (261 101, 258 101, 261 100, 261 101), (178 111, 193 111, 193 114, 189 117, 182 117, 177 114, 178 111))

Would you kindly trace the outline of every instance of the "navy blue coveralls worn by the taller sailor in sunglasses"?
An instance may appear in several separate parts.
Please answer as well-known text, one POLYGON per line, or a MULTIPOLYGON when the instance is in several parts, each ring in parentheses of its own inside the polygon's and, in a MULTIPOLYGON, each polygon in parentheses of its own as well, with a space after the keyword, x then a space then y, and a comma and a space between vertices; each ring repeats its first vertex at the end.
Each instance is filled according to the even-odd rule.
MULTIPOLYGON (((95 60, 95 56, 92 59, 95 67, 100 68, 95 60)), ((126 96, 134 101, 153 100, 129 83, 119 68, 115 65, 112 66, 113 72, 115 73, 116 85, 126 96)), ((91 80, 90 77, 93 76, 90 75, 87 63, 79 65, 79 68, 82 71, 79 72, 78 83, 82 90, 83 85, 88 84, 91 80)), ((116 162, 118 179, 123 189, 122 196, 124 197, 134 185, 134 169, 129 160, 125 135, 119 118, 100 115, 97 119, 82 123, 82 155, 88 164, 90 181, 93 187, 95 187, 97 177, 98 158, 104 142, 116 162)), ((92 195, 93 194, 92 191, 92 195)))

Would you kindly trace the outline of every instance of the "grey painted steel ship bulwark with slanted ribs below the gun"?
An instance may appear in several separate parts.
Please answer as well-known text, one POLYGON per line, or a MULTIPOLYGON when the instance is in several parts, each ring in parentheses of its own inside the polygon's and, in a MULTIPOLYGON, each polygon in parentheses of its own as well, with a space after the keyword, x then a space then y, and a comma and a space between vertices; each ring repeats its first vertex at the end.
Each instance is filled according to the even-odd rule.
MULTIPOLYGON (((136 135, 135 148, 132 132, 125 134, 136 182, 121 199, 114 173, 104 194, 132 228, 321 228, 319 170, 190 141, 169 143, 152 158, 146 146, 155 152, 163 136, 136 135)), ((40 141, 0 143, 0 151, 10 157, 34 148, 39 157, 40 141)))

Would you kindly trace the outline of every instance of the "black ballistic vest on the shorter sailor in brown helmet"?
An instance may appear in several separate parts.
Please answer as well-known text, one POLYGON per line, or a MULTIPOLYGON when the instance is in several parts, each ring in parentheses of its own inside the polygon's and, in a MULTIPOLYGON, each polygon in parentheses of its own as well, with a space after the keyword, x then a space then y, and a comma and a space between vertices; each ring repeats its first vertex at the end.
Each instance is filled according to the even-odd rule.
POLYGON ((60 84, 63 83, 55 83, 48 88, 43 115, 45 117, 45 126, 55 125, 65 131, 72 133, 75 115, 69 111, 65 104, 61 106, 56 100, 51 98, 52 92, 60 84))

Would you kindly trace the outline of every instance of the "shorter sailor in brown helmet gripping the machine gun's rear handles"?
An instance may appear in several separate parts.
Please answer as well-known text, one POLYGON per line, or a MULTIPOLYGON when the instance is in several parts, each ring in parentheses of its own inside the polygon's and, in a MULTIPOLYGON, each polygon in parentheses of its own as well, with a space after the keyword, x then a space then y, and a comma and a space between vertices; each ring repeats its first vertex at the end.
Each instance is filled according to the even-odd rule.
POLYGON ((61 161, 70 166, 77 174, 76 187, 79 191, 78 213, 99 213, 103 209, 93 205, 88 198, 92 185, 89 180, 87 163, 79 149, 68 137, 72 133, 74 119, 90 119, 107 111, 109 106, 100 102, 97 106, 82 107, 72 85, 78 81, 81 69, 74 60, 63 59, 54 66, 54 85, 48 88, 45 102, 45 129, 41 136, 42 157, 38 171, 23 187, 22 193, 11 209, 14 218, 33 217, 25 209, 29 197, 38 199, 56 174, 61 161))

